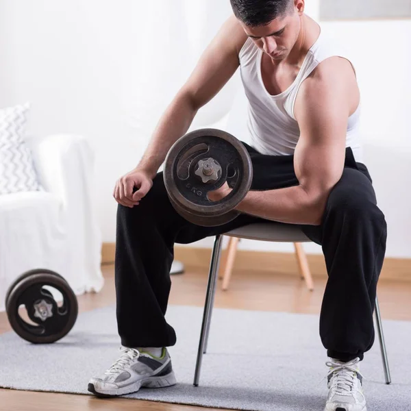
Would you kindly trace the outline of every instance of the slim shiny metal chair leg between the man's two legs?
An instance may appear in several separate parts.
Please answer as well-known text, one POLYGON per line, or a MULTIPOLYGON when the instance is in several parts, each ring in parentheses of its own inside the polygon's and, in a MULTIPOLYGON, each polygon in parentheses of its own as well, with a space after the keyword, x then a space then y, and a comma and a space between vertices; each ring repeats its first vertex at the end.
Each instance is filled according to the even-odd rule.
POLYGON ((194 382, 193 382, 193 385, 196 387, 199 386, 201 363, 203 361, 203 353, 206 353, 207 344, 208 344, 208 334, 210 332, 212 306, 214 304, 216 279, 217 279, 217 273, 219 271, 222 239, 223 239, 223 236, 220 236, 220 235, 216 236, 216 239, 214 241, 214 247, 212 250, 210 273, 208 275, 206 304, 204 306, 203 323, 201 325, 199 350, 197 353, 197 363, 195 365, 195 375, 194 375, 194 382))

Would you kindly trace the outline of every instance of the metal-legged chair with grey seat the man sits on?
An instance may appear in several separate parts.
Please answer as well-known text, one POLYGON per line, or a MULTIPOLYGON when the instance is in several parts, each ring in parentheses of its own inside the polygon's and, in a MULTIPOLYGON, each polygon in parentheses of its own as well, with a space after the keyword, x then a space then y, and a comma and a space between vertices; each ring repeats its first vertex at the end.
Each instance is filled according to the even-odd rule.
MULTIPOLYGON (((311 240, 301 232, 297 225, 283 225, 276 222, 254 223, 234 229, 225 234, 226 236, 237 238, 248 238, 250 240, 271 241, 271 242, 310 242, 311 240)), ((194 386, 199 386, 201 373, 201 364, 203 354, 207 352, 208 335, 210 333, 210 322, 212 316, 212 308, 214 306, 214 295, 216 290, 216 279, 219 271, 219 262, 221 257, 221 245, 223 236, 216 236, 214 247, 212 250, 212 258, 210 263, 210 273, 208 276, 208 286, 206 294, 206 303, 203 312, 203 323, 201 325, 201 334, 199 340, 199 350, 197 353, 197 363, 195 367, 194 386)), ((381 314, 379 311, 378 299, 375 299, 375 321, 377 323, 377 331, 379 344, 381 347, 382 360, 384 364, 384 373, 386 384, 391 383, 390 369, 388 366, 388 358, 386 353, 386 345, 384 333, 382 330, 381 314)))

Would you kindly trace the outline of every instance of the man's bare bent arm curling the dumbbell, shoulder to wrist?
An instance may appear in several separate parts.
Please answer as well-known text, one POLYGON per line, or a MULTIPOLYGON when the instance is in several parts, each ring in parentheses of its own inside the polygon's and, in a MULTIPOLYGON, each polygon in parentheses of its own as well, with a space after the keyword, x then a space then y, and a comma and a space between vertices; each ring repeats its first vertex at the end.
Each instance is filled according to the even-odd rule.
POLYGON ((236 210, 282 223, 320 225, 329 192, 343 174, 347 121, 358 87, 347 60, 330 58, 301 85, 295 102, 300 138, 298 186, 250 191, 236 210))

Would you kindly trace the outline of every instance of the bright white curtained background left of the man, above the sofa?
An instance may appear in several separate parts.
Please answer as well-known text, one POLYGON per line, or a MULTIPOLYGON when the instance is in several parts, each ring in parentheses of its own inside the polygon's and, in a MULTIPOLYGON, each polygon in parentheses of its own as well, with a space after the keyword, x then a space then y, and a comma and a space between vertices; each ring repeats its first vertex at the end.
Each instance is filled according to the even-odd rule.
MULTIPOLYGON (((115 240, 116 179, 230 14, 229 0, 0 0, 0 107, 30 101, 29 134, 90 140, 103 241, 115 240)), ((225 118, 238 80, 192 128, 225 118)))

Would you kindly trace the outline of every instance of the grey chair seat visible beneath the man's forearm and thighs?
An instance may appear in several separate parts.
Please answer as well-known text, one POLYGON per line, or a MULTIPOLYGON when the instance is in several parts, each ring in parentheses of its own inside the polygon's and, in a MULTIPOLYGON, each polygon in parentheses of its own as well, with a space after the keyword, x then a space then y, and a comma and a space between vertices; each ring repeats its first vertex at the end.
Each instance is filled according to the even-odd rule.
POLYGON ((244 227, 233 229, 225 236, 247 238, 249 240, 275 242, 310 242, 298 225, 267 221, 266 223, 252 223, 244 227))

